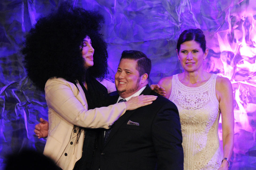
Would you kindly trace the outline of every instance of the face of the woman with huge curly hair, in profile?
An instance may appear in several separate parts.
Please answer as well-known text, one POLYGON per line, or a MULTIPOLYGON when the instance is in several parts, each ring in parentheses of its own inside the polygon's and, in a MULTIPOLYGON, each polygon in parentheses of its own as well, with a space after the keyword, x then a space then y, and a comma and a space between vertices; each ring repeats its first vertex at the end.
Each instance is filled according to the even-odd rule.
POLYGON ((91 46, 90 37, 86 36, 85 39, 83 39, 83 42, 81 45, 81 51, 82 51, 82 56, 85 60, 85 68, 88 69, 89 67, 93 66, 93 54, 94 54, 94 49, 91 46))

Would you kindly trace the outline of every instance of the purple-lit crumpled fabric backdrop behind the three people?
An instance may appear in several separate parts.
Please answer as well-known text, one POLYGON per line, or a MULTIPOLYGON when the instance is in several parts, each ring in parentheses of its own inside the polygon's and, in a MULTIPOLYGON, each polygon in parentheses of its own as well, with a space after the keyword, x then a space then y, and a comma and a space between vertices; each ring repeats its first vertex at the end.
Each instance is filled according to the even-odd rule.
MULTIPOLYGON (((24 35, 61 0, 0 2, 0 169, 6 154, 22 148, 42 152, 45 139, 34 135, 47 119, 44 94, 26 77, 19 52, 24 35)), ((113 81, 123 50, 140 50, 151 59, 150 83, 180 73, 176 43, 182 31, 200 28, 209 54, 205 70, 230 79, 234 92, 235 145, 230 169, 256 169, 256 3, 255 0, 73 0, 98 10, 108 44, 113 81)), ((38 75, 40 76, 40 75, 38 75)), ((222 140, 221 120, 219 137, 222 140)))

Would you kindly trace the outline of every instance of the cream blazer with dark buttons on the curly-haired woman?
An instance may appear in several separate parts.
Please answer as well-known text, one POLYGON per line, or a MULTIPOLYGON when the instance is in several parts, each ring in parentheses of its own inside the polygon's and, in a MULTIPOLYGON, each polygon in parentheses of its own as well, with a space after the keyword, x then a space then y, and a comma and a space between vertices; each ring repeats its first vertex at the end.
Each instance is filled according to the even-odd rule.
POLYGON ((82 156, 84 131, 76 143, 74 125, 108 129, 126 111, 124 102, 88 110, 83 89, 79 83, 77 87, 63 78, 52 78, 45 84, 49 131, 43 154, 63 170, 72 170, 82 156))

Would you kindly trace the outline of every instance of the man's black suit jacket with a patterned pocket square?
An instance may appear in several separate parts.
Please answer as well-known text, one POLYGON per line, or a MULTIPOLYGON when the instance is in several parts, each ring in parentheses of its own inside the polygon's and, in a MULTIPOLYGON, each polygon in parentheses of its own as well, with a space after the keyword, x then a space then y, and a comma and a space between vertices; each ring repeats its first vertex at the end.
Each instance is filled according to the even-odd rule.
MULTIPOLYGON (((141 94, 158 97, 150 105, 126 111, 114 123, 106 143, 99 145, 100 170, 183 169, 176 105, 148 85, 141 94), (127 124, 129 121, 137 125, 127 124)), ((109 104, 116 103, 118 97, 116 92, 111 93, 109 104)))

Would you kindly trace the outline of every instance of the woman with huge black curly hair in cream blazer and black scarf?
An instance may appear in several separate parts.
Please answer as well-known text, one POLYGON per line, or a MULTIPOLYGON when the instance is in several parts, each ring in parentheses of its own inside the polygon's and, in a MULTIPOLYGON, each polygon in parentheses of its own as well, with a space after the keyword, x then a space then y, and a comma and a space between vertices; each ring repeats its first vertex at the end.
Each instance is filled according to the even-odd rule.
POLYGON ((108 92, 98 82, 108 84, 107 47, 98 32, 103 21, 97 12, 62 3, 31 28, 22 49, 28 77, 45 91, 49 134, 43 154, 63 170, 91 169, 99 133, 93 128, 109 129, 126 110, 155 100, 137 96, 103 107, 108 92))

